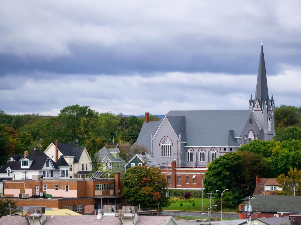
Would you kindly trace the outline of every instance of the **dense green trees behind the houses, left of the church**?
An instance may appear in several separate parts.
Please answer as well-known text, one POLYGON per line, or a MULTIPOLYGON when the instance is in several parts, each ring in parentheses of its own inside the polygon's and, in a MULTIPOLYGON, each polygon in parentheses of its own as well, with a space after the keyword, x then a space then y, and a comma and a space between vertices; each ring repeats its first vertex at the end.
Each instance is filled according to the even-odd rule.
MULTIPOLYGON (((159 120, 153 115, 149 119, 159 120)), ((31 152, 34 148, 43 151, 54 140, 85 146, 93 157, 113 136, 114 142, 135 143, 143 122, 144 117, 98 113, 79 105, 65 107, 57 116, 9 115, 0 110, 0 167, 8 155, 31 152)))

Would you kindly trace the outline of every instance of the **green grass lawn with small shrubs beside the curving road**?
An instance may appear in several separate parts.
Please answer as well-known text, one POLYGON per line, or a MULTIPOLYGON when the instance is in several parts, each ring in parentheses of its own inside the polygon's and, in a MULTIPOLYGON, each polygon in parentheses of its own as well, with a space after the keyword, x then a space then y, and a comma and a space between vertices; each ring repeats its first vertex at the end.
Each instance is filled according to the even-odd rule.
MULTIPOLYGON (((194 199, 195 206, 192 206, 193 202, 185 202, 185 201, 176 201, 170 203, 168 207, 163 208, 163 210, 183 210, 183 211, 202 211, 202 198, 192 198, 194 199), (182 202, 183 206, 180 206, 180 203, 182 202)), ((209 199, 204 199, 204 211, 208 211, 209 208, 209 199)), ((238 207, 237 207, 238 208, 238 207)), ((212 211, 215 211, 214 208, 212 211)), ((223 208, 223 212, 237 212, 237 209, 235 208, 223 208)))

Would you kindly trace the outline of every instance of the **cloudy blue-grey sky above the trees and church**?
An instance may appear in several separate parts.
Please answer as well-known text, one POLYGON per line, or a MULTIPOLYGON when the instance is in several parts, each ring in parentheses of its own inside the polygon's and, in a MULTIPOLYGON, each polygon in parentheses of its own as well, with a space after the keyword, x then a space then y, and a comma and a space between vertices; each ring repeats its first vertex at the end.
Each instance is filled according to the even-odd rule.
POLYGON ((57 115, 300 106, 301 1, 0 1, 0 109, 57 115))

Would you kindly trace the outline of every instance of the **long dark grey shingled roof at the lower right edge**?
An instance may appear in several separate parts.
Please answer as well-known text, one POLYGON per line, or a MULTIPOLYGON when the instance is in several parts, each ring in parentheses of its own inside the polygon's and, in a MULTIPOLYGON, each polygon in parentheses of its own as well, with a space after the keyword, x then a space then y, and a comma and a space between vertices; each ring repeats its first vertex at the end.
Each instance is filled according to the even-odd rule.
POLYGON ((292 195, 255 195, 250 199, 254 212, 301 212, 301 196, 292 195))

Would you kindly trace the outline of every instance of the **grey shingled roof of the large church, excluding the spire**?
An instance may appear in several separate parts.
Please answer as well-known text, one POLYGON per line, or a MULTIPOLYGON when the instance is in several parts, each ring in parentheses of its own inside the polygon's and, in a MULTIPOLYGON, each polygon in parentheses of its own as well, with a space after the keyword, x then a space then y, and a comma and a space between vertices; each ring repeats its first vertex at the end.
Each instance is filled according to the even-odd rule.
MULTIPOLYGON (((167 119, 175 133, 181 132, 185 146, 240 146, 240 137, 252 111, 250 110, 195 110, 169 111, 167 119), (184 119, 185 117, 185 119, 184 119)), ((151 134, 156 133, 158 122, 144 123, 137 143, 151 149, 151 134)))

